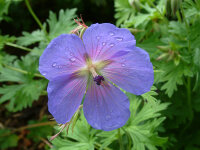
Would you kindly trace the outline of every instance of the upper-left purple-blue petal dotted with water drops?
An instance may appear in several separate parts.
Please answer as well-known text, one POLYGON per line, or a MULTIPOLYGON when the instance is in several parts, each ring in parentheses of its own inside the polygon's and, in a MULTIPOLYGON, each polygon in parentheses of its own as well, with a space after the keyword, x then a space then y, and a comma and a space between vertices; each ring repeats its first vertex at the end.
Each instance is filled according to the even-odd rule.
POLYGON ((85 65, 83 42, 75 34, 61 34, 44 50, 39 71, 48 80, 71 74, 85 65))

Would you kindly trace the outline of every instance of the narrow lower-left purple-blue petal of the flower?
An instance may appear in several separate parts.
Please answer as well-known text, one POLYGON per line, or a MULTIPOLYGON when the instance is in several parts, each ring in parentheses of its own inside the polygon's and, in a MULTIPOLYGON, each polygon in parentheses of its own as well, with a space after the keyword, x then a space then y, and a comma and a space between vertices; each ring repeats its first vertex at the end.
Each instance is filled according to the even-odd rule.
POLYGON ((48 109, 56 122, 65 124, 70 121, 86 90, 87 79, 64 75, 54 78, 48 84, 48 109))

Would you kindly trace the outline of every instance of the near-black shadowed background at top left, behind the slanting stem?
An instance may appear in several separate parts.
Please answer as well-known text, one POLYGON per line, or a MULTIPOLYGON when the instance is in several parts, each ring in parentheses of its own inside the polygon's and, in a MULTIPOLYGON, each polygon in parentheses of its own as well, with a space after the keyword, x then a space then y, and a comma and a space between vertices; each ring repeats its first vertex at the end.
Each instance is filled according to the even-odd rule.
MULTIPOLYGON (((84 21, 90 24, 115 23, 113 0, 31 0, 30 4, 41 22, 46 21, 50 10, 58 14, 60 9, 77 8, 76 14, 82 15, 84 21)), ((2 34, 12 33, 12 35, 19 36, 22 31, 33 31, 38 28, 31 14, 28 13, 24 1, 11 3, 8 16, 12 20, 1 22, 2 34)))

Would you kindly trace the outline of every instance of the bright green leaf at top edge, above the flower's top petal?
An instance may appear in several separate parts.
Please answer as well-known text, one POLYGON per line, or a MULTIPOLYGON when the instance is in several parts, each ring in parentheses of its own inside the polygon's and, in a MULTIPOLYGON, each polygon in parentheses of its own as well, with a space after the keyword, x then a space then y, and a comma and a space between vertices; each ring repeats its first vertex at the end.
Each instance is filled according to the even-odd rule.
POLYGON ((129 27, 129 25, 132 24, 133 27, 136 28, 140 25, 146 26, 149 21, 154 19, 162 20, 163 17, 161 14, 164 14, 165 12, 165 2, 160 0, 156 7, 157 9, 152 8, 147 1, 116 0, 116 24, 119 26, 123 23, 126 27, 129 27))

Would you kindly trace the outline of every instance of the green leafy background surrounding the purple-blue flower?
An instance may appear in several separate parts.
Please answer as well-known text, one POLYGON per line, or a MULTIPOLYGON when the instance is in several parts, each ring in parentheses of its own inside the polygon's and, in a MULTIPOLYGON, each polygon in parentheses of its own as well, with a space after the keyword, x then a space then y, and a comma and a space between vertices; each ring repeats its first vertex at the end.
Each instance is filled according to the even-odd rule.
POLYGON ((200 0, 0 0, 0 149, 199 150, 199 27, 200 0), (126 93, 131 117, 124 127, 95 130, 80 110, 69 133, 50 141, 60 129, 38 60, 80 15, 88 26, 129 29, 150 55, 154 86, 141 96, 126 93))

